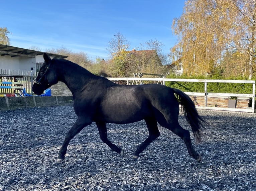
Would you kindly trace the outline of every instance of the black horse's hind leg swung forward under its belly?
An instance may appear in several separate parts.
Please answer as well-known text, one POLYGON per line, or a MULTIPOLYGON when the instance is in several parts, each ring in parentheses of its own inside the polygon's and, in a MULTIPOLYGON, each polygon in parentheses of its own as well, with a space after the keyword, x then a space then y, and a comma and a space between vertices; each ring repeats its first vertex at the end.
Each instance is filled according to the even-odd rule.
POLYGON ((138 158, 139 154, 160 135, 157 127, 157 121, 155 118, 145 118, 145 122, 148 128, 149 135, 148 138, 146 138, 146 140, 137 147, 136 151, 133 154, 133 158, 138 158))

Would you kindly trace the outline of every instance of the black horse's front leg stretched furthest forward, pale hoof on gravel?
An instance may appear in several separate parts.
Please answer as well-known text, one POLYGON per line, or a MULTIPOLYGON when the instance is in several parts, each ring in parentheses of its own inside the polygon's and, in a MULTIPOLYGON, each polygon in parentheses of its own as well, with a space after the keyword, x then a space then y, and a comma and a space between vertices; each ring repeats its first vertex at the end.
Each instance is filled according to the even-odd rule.
POLYGON ((65 140, 59 150, 58 162, 61 162, 65 159, 65 154, 67 153, 67 148, 69 141, 76 136, 85 126, 90 125, 92 121, 86 117, 78 117, 72 128, 66 134, 65 140))

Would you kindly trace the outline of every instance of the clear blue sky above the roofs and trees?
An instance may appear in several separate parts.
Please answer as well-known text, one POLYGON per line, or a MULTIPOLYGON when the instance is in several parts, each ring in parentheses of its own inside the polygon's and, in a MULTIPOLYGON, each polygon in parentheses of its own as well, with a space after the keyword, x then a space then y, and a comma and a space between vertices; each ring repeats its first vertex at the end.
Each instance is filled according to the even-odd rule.
POLYGON ((26 0, 4 1, 0 27, 7 27, 11 46, 42 51, 65 47, 89 58, 107 59, 108 42, 120 32, 129 50, 158 40, 169 53, 176 42, 171 25, 185 0, 26 0))

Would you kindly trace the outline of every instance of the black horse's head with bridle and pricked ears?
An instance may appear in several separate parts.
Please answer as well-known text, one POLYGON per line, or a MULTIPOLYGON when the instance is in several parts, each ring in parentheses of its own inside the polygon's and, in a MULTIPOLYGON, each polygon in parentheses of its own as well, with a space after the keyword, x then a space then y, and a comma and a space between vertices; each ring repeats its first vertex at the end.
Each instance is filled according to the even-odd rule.
POLYGON ((41 95, 51 85, 58 83, 57 75, 53 70, 53 60, 46 53, 43 53, 43 59, 43 66, 40 68, 32 87, 36 95, 41 95))

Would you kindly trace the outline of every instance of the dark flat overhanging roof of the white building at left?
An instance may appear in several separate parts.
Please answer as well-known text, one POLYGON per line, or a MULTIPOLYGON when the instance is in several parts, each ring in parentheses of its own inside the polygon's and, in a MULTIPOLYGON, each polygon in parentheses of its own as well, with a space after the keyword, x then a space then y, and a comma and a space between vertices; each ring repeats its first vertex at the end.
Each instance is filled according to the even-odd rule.
MULTIPOLYGON (((42 55, 44 52, 41 51, 35 51, 35 50, 29 50, 24 48, 18 48, 8 45, 2 45, 0 44, 0 56, 11 56, 11 57, 30 57, 35 58, 36 55, 42 55)), ((52 54, 47 53, 50 57, 53 58, 68 58, 68 56, 58 55, 58 54, 52 54)))

